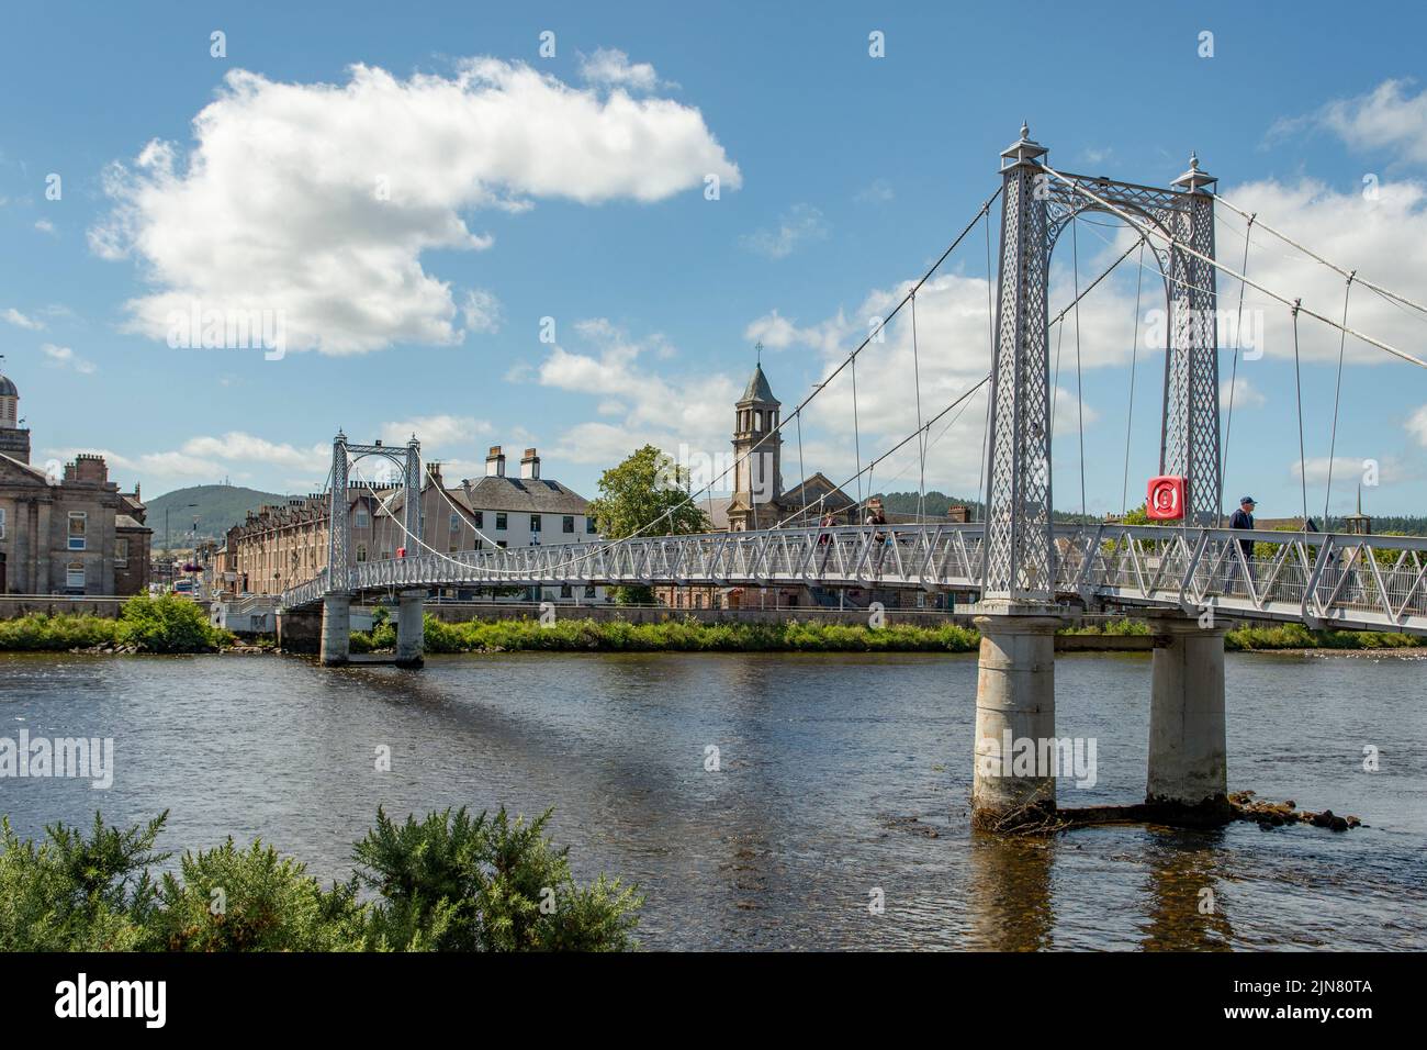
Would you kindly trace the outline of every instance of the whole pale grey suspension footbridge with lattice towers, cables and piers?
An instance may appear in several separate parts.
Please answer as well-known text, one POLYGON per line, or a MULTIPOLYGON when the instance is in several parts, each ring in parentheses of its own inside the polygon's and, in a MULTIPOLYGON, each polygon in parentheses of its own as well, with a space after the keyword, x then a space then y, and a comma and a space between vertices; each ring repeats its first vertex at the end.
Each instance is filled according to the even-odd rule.
MULTIPOLYGON (((1033 816, 1055 809, 1053 776, 1002 774, 983 759, 1006 734, 1037 741, 1042 747, 1045 741, 1055 743, 1056 627, 1066 616, 1085 610, 1134 609, 1152 623, 1156 634, 1147 800, 1186 811, 1222 804, 1227 793, 1223 634, 1230 621, 1427 634, 1427 539, 1373 537, 1311 527, 1301 457, 1301 397, 1303 529, 1222 527, 1224 449, 1220 436, 1227 427, 1220 420, 1219 359, 1227 347, 1220 346, 1217 276, 1223 273, 1237 281, 1240 313, 1244 287, 1256 289, 1291 311, 1296 376, 1300 316, 1339 331, 1340 379, 1343 344, 1349 337, 1414 366, 1427 367, 1427 361, 1350 327, 1346 296, 1341 320, 1336 320, 1326 307, 1309 307, 1249 277, 1247 240, 1239 269, 1216 259, 1216 209, 1239 213, 1247 219, 1250 230, 1257 224, 1337 270, 1346 279, 1347 291, 1356 283, 1404 309, 1427 314, 1427 307, 1329 261, 1259 216, 1236 209, 1217 196, 1213 189, 1217 180, 1200 170, 1197 159, 1192 157, 1189 170, 1167 187, 1066 174, 1050 167, 1046 147, 1032 140, 1025 126, 1000 159, 1000 187, 880 321, 885 326, 910 304, 913 353, 918 353, 918 291, 977 223, 986 224, 989 249, 990 209, 999 197, 1000 253, 989 331, 990 371, 942 411, 923 419, 918 370, 918 429, 866 463, 859 451, 858 473, 849 479, 849 483, 870 479, 878 463, 915 443, 925 484, 932 427, 950 411, 963 409, 972 394, 989 384, 982 471, 985 520, 811 526, 818 519, 813 506, 805 507, 796 520, 772 529, 668 536, 661 534, 665 514, 634 536, 612 541, 527 549, 502 549, 491 541, 488 550, 444 553, 420 539, 422 466, 415 437, 405 447, 395 447, 355 444, 338 434, 332 444, 328 493, 327 567, 281 596, 284 614, 321 610, 321 660, 341 664, 348 659, 352 599, 395 591, 400 596, 397 659, 418 666, 422 601, 434 587, 808 584, 975 591, 980 596, 975 613, 982 649, 973 813, 977 823, 996 826, 1007 814, 1033 816), (1164 506, 1156 503, 1159 497, 1152 500, 1152 511, 1163 511, 1162 524, 1067 526, 1057 524, 1052 516, 1055 380, 1050 329, 1109 273, 1106 270, 1085 289, 1079 287, 1077 274, 1075 301, 1055 320, 1049 317, 1052 251, 1062 233, 1073 229, 1085 213, 1113 216, 1137 234, 1110 270, 1136 249, 1142 254, 1147 250, 1164 284, 1169 323, 1160 477, 1156 481, 1166 499, 1164 506), (404 497, 400 527, 410 550, 401 551, 401 557, 358 563, 351 551, 348 507, 352 467, 367 457, 384 457, 401 477, 392 496, 400 491, 404 497)), ((856 390, 858 357, 876 351, 876 336, 878 331, 870 333, 815 384, 763 440, 796 423, 801 441, 802 414, 843 369, 850 369, 856 390)), ((1232 374, 1237 373, 1237 364, 1236 343, 1232 374)), ((1230 400, 1229 423, 1232 407, 1230 400)), ((1336 401, 1333 440, 1337 409, 1336 401)), ((759 446, 748 454, 755 454, 759 446)), ((738 466, 735 463, 731 470, 738 466)), ((711 487, 721 480, 722 476, 714 479, 711 487)), ((375 494, 374 489, 371 491, 375 494)), ((699 496, 691 493, 688 499, 695 501, 699 496)))

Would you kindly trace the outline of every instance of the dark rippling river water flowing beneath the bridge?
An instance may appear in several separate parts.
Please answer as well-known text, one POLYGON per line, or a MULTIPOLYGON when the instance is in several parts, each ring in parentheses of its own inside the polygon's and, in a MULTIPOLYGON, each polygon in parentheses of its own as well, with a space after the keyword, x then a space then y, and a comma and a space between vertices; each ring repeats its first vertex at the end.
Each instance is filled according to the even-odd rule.
MULTIPOLYGON (((946 656, 501 654, 420 673, 0 656, 0 736, 111 736, 117 767, 107 791, 0 780, 0 811, 37 834, 167 807, 167 849, 261 836, 327 880, 378 804, 554 806, 581 879, 641 883, 641 939, 661 949, 1421 950, 1424 670, 1229 656, 1230 787, 1367 824, 1346 834, 972 834, 976 663, 946 656)), ((1062 781, 1062 804, 1143 799, 1149 676, 1144 656, 1059 659, 1059 733, 1095 737, 1099 759, 1099 783, 1062 781)))

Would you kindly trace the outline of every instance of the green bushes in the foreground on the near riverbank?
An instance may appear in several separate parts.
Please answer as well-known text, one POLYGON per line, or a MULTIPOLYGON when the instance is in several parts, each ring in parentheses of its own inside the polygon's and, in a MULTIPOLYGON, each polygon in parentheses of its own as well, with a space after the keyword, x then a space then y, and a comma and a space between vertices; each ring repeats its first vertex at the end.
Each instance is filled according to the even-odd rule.
POLYGON ((354 847, 357 873, 324 890, 270 846, 186 854, 156 883, 148 867, 167 811, 88 836, 46 827, 40 844, 0 820, 4 951, 618 951, 636 947, 642 899, 601 876, 581 889, 567 850, 502 809, 391 821, 354 847), (377 894, 360 900, 365 887, 377 894))

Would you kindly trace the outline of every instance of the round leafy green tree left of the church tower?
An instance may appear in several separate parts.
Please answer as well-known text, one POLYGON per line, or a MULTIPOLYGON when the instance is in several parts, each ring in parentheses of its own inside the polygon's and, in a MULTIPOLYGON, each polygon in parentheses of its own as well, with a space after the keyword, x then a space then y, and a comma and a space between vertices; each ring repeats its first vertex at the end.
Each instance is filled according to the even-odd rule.
MULTIPOLYGON (((682 536, 711 527, 708 516, 689 501, 689 471, 652 444, 599 476, 599 497, 586 513, 609 540, 682 536)), ((615 587, 614 593, 621 604, 654 601, 648 587, 615 587)))

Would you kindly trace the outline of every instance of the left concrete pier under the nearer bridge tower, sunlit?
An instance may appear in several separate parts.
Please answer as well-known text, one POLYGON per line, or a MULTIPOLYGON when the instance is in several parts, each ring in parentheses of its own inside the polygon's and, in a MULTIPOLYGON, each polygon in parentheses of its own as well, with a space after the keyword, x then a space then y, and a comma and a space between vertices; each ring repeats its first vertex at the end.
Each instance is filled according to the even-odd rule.
POLYGON ((1050 610, 1012 607, 976 617, 976 774, 972 826, 1009 830, 1055 813, 1056 779, 1042 756, 1056 736, 1056 649, 1050 610))

